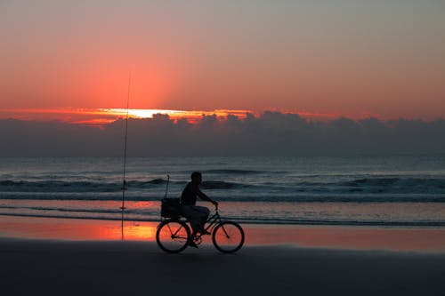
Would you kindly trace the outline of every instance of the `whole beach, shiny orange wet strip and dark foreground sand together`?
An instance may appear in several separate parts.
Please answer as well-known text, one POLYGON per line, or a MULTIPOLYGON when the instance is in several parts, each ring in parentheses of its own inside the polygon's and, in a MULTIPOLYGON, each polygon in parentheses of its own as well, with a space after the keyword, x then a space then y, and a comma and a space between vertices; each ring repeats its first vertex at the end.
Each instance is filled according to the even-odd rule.
POLYGON ((0 220, 4 295, 443 295, 445 288, 442 228, 243 225, 246 245, 235 254, 217 252, 207 238, 199 249, 167 254, 146 232, 152 223, 127 222, 122 241, 117 221, 0 220))

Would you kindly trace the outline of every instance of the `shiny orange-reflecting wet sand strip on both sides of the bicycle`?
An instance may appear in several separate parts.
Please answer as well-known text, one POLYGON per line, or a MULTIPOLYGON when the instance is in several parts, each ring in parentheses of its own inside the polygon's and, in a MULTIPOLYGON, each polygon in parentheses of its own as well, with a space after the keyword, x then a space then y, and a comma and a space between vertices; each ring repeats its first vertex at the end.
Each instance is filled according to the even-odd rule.
MULTIPOLYGON (((0 237, 155 242, 158 222, 80 220, 0 215, 0 237)), ((300 248, 347 249, 445 254, 445 228, 242 224, 246 245, 294 245, 300 248)), ((203 244, 212 244, 207 236, 203 244)))

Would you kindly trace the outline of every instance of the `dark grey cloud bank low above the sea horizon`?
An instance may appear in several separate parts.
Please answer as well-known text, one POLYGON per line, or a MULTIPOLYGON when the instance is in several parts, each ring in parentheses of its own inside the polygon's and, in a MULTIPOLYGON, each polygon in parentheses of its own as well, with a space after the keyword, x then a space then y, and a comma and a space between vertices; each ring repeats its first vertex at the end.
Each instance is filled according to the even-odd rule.
MULTIPOLYGON (((125 121, 97 127, 0 120, 0 156, 122 156, 125 121)), ((310 121, 265 112, 246 119, 130 119, 129 156, 346 156, 445 153, 445 120, 310 121)))

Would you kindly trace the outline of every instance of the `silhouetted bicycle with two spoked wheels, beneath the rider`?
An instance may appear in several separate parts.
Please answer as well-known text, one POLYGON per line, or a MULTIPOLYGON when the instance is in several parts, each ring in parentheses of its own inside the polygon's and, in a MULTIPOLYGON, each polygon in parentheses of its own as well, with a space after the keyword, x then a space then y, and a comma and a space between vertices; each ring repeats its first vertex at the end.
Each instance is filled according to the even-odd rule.
MULTIPOLYGON (((212 235, 214 247, 225 253, 237 252, 244 244, 244 230, 237 222, 222 220, 218 205, 214 206, 214 214, 206 220, 206 231, 212 235)), ((181 215, 162 220, 156 232, 156 242, 165 252, 182 252, 190 240, 190 227, 181 215)), ((195 244, 202 243, 202 234, 193 237, 195 244)))

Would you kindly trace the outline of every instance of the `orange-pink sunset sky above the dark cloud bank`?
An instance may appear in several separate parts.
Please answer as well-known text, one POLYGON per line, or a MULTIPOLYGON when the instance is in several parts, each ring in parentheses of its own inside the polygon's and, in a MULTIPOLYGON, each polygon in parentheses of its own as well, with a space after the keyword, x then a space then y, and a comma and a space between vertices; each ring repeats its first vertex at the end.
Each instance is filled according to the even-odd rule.
POLYGON ((1 118, 128 97, 134 109, 445 117, 443 0, 1 0, 0 40, 1 118))

